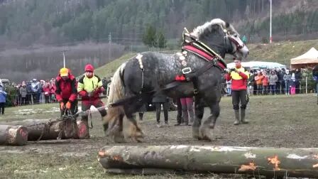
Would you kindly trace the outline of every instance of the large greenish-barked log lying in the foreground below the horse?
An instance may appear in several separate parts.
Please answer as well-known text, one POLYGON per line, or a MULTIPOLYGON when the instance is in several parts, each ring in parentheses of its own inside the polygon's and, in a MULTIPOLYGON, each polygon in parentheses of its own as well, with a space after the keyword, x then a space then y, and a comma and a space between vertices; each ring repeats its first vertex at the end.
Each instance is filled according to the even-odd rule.
POLYGON ((142 174, 143 168, 157 168, 158 171, 318 177, 318 148, 104 146, 98 160, 111 173, 142 174))

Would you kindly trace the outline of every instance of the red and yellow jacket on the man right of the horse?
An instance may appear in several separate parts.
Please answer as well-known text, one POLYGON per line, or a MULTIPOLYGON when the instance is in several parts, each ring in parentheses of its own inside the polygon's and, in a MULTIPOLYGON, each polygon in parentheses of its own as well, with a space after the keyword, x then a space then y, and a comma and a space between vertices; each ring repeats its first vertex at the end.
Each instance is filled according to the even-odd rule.
POLYGON ((231 73, 226 73, 225 79, 227 81, 232 80, 232 91, 247 89, 249 73, 243 67, 236 68, 236 70, 238 72, 232 71, 231 73))

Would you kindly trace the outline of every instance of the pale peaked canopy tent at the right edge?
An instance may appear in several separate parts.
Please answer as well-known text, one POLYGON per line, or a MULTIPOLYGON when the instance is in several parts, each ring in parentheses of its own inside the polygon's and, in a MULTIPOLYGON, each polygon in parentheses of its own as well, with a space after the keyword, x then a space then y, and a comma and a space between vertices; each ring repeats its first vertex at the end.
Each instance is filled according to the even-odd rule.
POLYGON ((307 53, 304 53, 296 58, 290 59, 292 68, 313 67, 318 64, 318 51, 315 48, 310 48, 307 53))

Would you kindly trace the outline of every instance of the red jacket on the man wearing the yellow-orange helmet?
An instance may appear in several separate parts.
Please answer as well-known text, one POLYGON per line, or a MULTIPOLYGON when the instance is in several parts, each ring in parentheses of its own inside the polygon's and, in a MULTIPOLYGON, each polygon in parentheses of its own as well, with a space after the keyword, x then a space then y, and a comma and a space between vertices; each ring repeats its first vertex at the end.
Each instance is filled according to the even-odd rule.
POLYGON ((74 102, 77 99, 76 79, 73 75, 68 75, 67 80, 63 80, 60 75, 57 75, 55 87, 57 102, 62 102, 63 99, 74 102))

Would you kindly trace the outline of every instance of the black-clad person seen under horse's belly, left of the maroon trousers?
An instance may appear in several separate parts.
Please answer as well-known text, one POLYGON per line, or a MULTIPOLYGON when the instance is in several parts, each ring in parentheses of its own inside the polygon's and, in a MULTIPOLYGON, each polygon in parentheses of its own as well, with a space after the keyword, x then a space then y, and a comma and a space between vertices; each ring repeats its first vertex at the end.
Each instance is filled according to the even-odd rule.
POLYGON ((155 116, 157 119, 157 126, 160 127, 160 113, 161 105, 163 105, 163 116, 165 118, 165 125, 168 125, 168 109, 169 109, 169 99, 165 94, 156 94, 153 97, 153 104, 155 105, 155 116))

